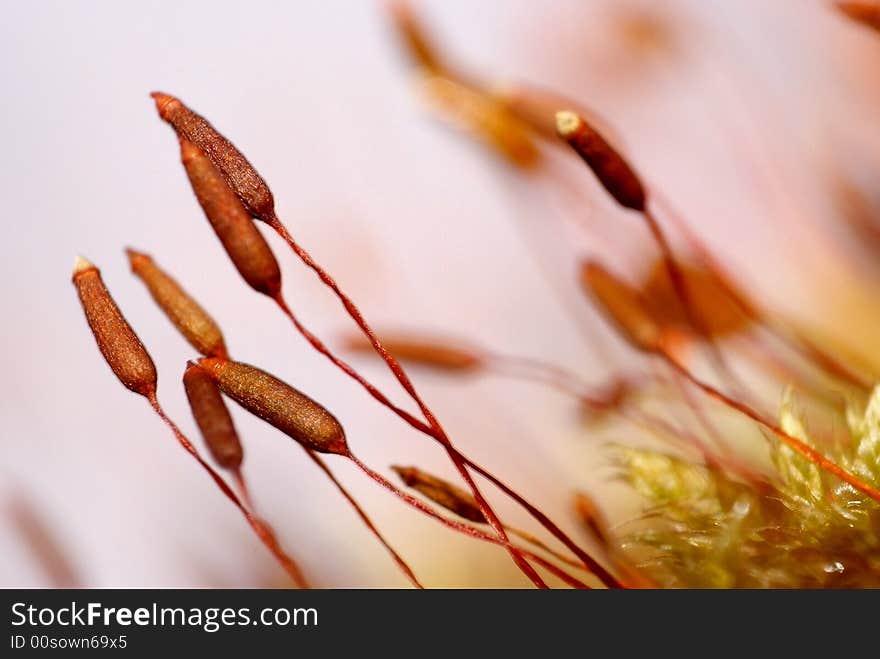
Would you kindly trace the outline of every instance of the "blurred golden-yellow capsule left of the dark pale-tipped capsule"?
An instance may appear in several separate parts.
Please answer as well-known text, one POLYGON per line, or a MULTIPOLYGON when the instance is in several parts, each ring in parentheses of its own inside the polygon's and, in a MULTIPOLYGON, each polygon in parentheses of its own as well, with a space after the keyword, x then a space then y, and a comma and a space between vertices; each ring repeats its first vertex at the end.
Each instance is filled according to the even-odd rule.
POLYGON ((528 127, 488 94, 439 75, 425 78, 422 86, 434 106, 512 165, 531 169, 539 163, 541 154, 528 127))

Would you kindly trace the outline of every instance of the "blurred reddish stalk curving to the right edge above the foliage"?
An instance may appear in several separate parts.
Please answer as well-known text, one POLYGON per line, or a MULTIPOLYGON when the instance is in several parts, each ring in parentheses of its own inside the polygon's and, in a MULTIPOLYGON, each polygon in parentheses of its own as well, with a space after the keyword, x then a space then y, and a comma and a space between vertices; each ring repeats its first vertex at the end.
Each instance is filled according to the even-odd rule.
POLYGON ((660 198, 660 201, 666 208, 666 215, 668 216, 670 221, 676 225, 678 230, 681 232, 685 240, 690 245, 691 249, 700 259, 700 261, 702 261, 703 264, 716 275, 718 283, 724 289, 724 292, 727 293, 728 297, 730 297, 730 299, 740 308, 743 314, 751 319, 752 322, 757 323, 770 330, 770 332, 772 332, 773 335, 780 339, 783 343, 785 343, 787 346, 789 346, 799 354, 805 356, 813 363, 817 364, 829 375, 844 380, 845 382, 849 382, 851 385, 862 390, 869 390, 871 388, 871 382, 869 380, 866 380, 864 377, 858 375, 857 373, 854 373, 850 368, 829 355, 827 352, 822 350, 814 343, 812 343, 809 339, 802 337, 796 331, 780 326, 778 323, 773 322, 770 318, 766 317, 763 313, 756 309, 749 300, 745 299, 729 283, 730 279, 727 276, 725 268, 706 248, 700 238, 693 231, 691 231, 687 222, 685 222, 680 217, 678 212, 674 208, 672 208, 671 203, 662 197, 660 198))

